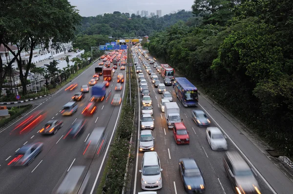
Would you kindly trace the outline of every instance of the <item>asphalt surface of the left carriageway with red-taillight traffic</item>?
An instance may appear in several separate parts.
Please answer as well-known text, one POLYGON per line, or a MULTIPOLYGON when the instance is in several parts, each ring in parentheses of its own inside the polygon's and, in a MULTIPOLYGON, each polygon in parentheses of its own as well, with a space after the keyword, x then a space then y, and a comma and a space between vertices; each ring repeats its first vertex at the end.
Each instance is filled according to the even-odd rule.
MULTIPOLYGON (((71 82, 79 84, 75 90, 64 91, 65 86, 53 96, 44 98, 44 101, 35 107, 32 112, 46 110, 47 116, 32 131, 21 136, 10 135, 15 125, 21 123, 32 112, 11 126, 0 130, 0 194, 51 194, 56 189, 58 183, 63 180, 69 168, 75 165, 83 165, 89 169, 91 176, 85 193, 96 193, 94 189, 97 188, 100 181, 98 175, 103 174, 102 164, 105 161, 108 144, 113 136, 121 110, 121 106, 112 106, 111 100, 114 93, 121 93, 123 96, 125 89, 125 86, 123 86, 122 91, 115 91, 117 74, 122 72, 125 75, 126 71, 120 70, 118 66, 107 88, 107 94, 110 94, 109 98, 103 102, 99 102, 97 111, 92 117, 84 117, 81 114, 84 106, 90 99, 91 89, 89 89, 89 93, 85 95, 82 101, 77 102, 78 110, 72 116, 62 116, 61 110, 63 105, 70 101, 71 97, 80 90, 81 86, 87 84, 92 78, 98 62, 101 62, 101 60, 96 61, 95 64, 71 82), (87 127, 84 134, 76 140, 64 139, 63 137, 69 126, 76 119, 80 118, 87 119, 87 127), (39 130, 51 119, 62 119, 64 122, 63 128, 53 136, 40 135, 38 133, 39 130), (96 155, 92 159, 86 159, 83 156, 85 141, 95 127, 106 127, 106 132, 108 132, 107 146, 105 146, 101 155, 96 155), (29 166, 14 168, 7 165, 19 148, 33 142, 43 142, 44 147, 40 155, 29 166)), ((102 81, 103 77, 98 82, 102 81)))

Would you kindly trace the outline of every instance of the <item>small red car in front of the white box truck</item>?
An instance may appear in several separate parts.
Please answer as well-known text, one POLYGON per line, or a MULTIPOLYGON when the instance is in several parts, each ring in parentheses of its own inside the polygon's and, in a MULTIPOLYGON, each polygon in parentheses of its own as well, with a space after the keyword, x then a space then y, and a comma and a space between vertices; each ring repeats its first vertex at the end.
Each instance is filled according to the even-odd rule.
POLYGON ((183 122, 174 123, 173 137, 176 144, 189 144, 188 131, 183 122))

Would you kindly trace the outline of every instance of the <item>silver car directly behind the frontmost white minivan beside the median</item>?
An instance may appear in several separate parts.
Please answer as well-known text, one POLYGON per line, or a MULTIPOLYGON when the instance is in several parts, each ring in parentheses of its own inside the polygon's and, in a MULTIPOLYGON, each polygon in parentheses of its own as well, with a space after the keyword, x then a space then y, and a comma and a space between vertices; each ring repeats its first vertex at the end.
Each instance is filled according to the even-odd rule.
POLYGON ((154 150, 154 139, 153 133, 151 130, 141 131, 139 137, 139 151, 153 151, 154 150))

